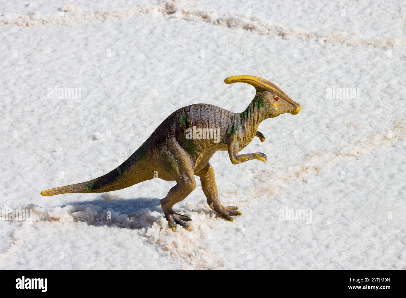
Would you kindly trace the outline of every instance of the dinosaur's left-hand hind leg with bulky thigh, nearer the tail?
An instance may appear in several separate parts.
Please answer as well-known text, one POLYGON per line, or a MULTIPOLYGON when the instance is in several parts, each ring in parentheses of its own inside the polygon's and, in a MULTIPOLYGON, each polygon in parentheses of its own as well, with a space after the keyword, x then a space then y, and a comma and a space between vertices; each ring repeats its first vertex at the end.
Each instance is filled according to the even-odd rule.
POLYGON ((192 219, 186 215, 173 211, 173 205, 185 199, 196 187, 196 180, 193 174, 193 163, 190 156, 175 142, 168 146, 170 149, 160 156, 161 169, 164 169, 166 176, 171 176, 171 180, 176 181, 176 185, 171 188, 166 197, 160 203, 164 210, 165 218, 169 227, 175 231, 176 224, 186 229, 190 229, 186 221, 192 219))

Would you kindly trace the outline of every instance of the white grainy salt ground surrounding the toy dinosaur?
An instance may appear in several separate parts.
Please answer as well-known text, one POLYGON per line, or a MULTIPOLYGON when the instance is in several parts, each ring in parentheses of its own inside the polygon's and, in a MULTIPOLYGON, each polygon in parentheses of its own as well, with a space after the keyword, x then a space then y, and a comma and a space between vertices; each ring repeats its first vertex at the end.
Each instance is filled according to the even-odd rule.
POLYGON ((405 19, 401 1, 0 1, 0 269, 405 269, 405 19), (62 11, 60 11, 62 9, 62 11), (344 10, 344 11, 343 11, 344 10), (356 25, 354 25, 356 24, 356 25), (42 197, 114 169, 172 111, 243 111, 255 75, 302 105, 211 160, 220 219, 197 188, 168 229, 174 182, 42 197), (52 99, 49 89, 80 88, 52 99), (356 88, 358 97, 328 96, 356 88), (280 210, 311 211, 311 221, 280 210), (107 212, 112 220, 106 221, 107 212))

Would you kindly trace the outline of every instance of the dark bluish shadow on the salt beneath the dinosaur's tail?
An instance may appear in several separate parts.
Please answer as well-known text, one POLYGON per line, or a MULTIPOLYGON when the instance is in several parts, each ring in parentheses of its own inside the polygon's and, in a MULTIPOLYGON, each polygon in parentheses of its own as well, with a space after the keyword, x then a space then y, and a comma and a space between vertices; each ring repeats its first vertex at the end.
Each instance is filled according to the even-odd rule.
POLYGON ((61 208, 72 206, 72 216, 76 221, 94 226, 118 226, 127 229, 149 228, 163 211, 160 199, 139 197, 134 199, 97 199, 83 202, 71 202, 61 208))

